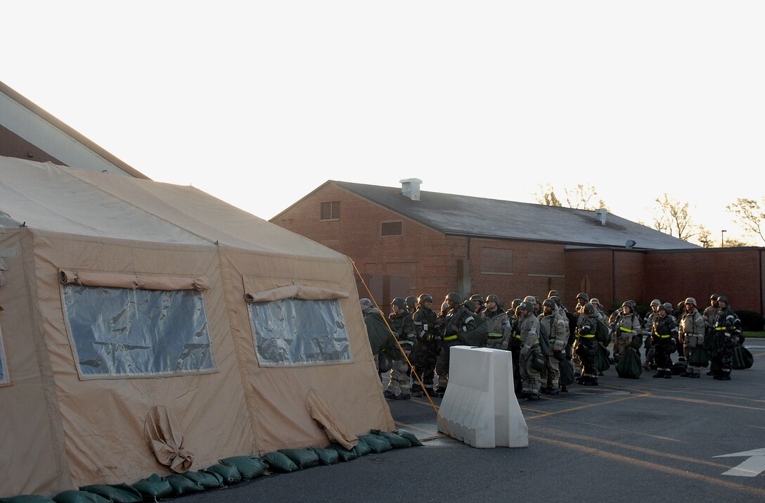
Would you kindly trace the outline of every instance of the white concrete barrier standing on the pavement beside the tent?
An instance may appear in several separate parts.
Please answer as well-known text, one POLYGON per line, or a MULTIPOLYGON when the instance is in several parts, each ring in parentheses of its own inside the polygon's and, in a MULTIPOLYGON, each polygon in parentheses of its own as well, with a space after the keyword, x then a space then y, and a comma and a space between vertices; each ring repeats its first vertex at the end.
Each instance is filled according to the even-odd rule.
POLYGON ((454 346, 449 384, 439 409, 449 431, 438 431, 469 446, 528 447, 529 427, 513 387, 510 351, 454 346))

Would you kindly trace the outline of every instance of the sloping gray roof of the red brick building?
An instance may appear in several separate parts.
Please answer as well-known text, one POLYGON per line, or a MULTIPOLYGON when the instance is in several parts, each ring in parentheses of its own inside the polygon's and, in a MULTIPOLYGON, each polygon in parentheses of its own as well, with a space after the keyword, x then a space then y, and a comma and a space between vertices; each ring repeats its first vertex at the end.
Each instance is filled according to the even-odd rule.
POLYGON ((615 214, 607 214, 602 225, 590 210, 428 191, 420 191, 420 201, 412 201, 401 194, 400 187, 330 182, 444 234, 597 247, 624 247, 633 240, 635 248, 649 250, 698 248, 615 214))

